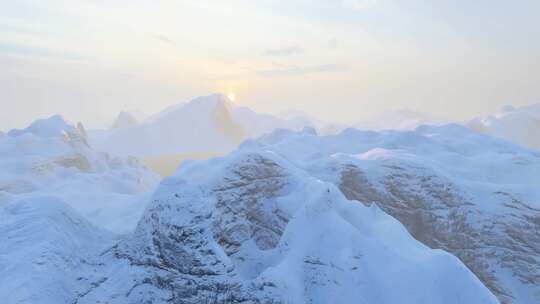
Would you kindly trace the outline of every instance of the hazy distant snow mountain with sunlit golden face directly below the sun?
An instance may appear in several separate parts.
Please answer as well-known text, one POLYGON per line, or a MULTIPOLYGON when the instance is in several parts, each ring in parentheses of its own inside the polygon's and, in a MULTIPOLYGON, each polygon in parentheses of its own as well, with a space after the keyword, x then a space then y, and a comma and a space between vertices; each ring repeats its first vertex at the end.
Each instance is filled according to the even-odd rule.
POLYGON ((235 105, 225 95, 214 94, 170 106, 138 124, 92 132, 90 141, 99 150, 124 156, 223 154, 247 138, 278 128, 299 131, 312 125, 305 118, 284 119, 257 113, 235 105))

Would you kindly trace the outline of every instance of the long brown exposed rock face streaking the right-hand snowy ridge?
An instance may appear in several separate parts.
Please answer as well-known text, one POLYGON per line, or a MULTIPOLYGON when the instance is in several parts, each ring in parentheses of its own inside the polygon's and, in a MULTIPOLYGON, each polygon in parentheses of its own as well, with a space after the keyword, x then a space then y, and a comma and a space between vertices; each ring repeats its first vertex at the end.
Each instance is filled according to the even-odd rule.
POLYGON ((493 191, 481 207, 468 191, 426 167, 382 164, 382 177, 369 178, 358 166, 340 165, 337 183, 345 196, 376 202, 419 241, 456 255, 501 303, 520 303, 519 284, 540 294, 540 209, 504 191, 493 191), (374 186, 377 185, 377 186, 374 186), (515 282, 504 278, 510 273, 515 282))

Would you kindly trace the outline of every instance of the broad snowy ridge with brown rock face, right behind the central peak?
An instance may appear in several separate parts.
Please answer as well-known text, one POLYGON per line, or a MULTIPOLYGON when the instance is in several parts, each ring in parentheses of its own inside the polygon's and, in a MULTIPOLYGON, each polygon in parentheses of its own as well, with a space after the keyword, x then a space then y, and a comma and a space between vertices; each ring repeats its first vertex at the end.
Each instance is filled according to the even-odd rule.
POLYGON ((414 131, 274 132, 272 151, 375 202, 419 241, 461 259, 502 303, 540 302, 540 154, 458 125, 414 131))

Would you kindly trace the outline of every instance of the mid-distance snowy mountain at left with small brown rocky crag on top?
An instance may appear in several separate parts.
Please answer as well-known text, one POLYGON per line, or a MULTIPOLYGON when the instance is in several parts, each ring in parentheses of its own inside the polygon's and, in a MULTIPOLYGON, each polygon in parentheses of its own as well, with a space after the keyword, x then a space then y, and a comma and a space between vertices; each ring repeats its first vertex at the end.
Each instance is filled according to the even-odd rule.
POLYGON ((87 143, 82 124, 41 119, 0 137, 0 204, 54 197, 115 232, 134 228, 159 178, 87 143))

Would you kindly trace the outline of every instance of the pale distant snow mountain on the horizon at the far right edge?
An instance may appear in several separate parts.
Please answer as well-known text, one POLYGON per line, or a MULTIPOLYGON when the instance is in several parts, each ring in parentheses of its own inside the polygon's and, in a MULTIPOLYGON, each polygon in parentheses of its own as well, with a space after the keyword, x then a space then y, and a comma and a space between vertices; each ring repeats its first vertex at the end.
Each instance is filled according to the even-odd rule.
POLYGON ((540 150, 540 103, 518 108, 505 106, 466 125, 477 132, 540 150))

